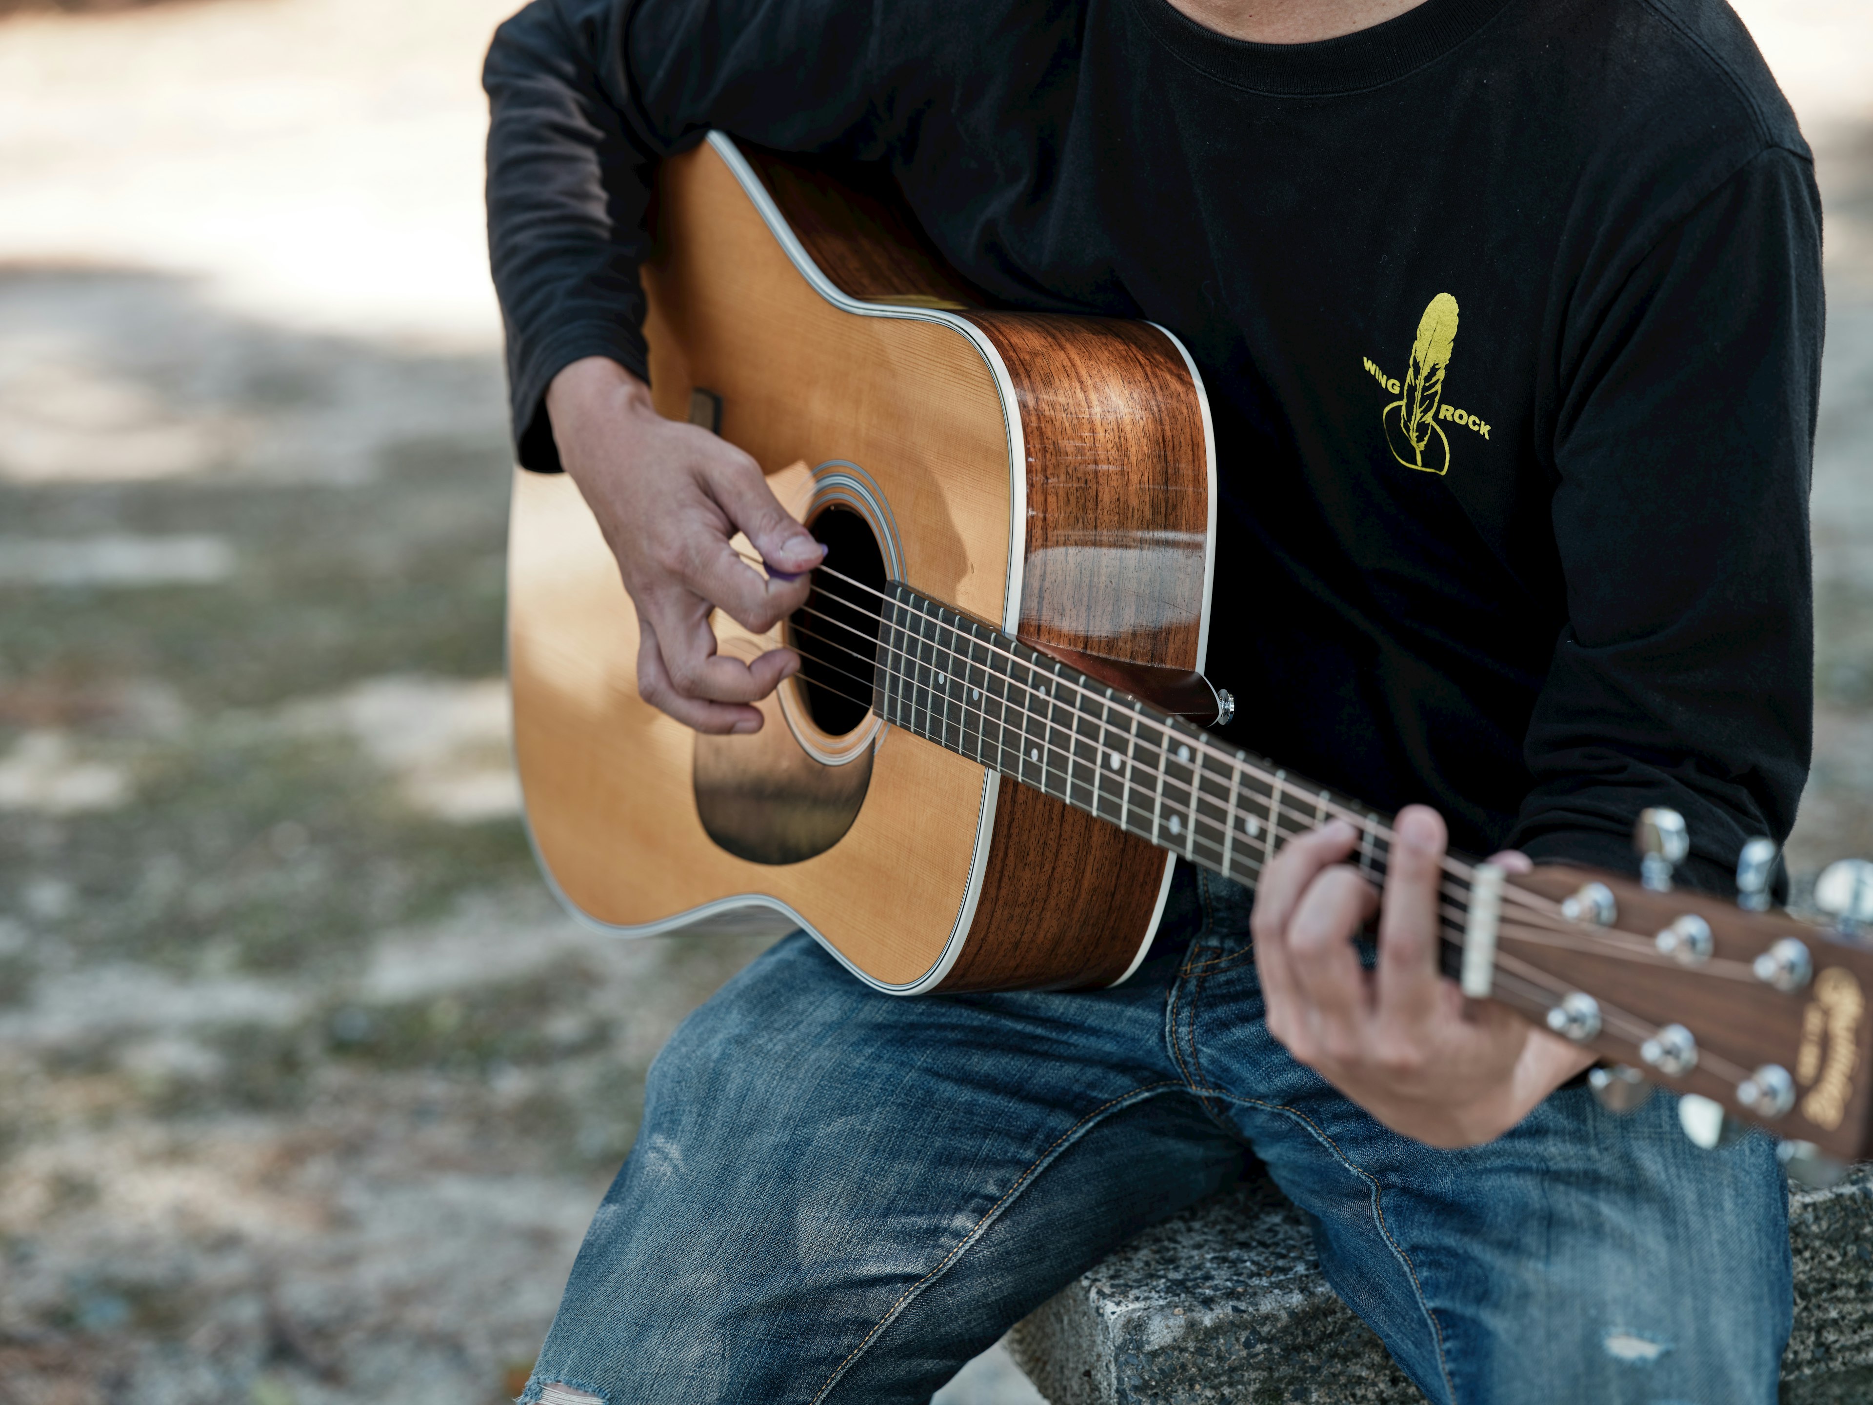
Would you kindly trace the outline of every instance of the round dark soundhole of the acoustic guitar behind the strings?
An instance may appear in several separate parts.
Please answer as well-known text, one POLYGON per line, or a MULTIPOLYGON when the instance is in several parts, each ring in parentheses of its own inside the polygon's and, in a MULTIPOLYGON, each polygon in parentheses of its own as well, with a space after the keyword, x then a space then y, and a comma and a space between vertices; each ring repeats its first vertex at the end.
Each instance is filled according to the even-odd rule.
POLYGON ((884 556, 871 523, 850 508, 832 504, 809 526, 826 543, 830 569, 813 573, 813 594, 787 622, 787 643, 800 650, 800 693, 813 725, 845 736, 871 712, 884 556))

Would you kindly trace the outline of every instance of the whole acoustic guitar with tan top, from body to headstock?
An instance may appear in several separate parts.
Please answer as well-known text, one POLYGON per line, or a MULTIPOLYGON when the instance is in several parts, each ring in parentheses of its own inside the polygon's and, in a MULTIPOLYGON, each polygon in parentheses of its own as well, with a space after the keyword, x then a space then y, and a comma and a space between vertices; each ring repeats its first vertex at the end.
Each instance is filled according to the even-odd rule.
MULTIPOLYGON (((830 551, 772 635, 717 614, 723 650, 804 667, 760 732, 702 736, 639 699, 637 616, 573 483, 517 472, 515 749, 575 914, 804 927, 895 995, 1084 989, 1143 959, 1178 858, 1253 884, 1343 817, 1384 880, 1386 817, 1217 731, 1216 448, 1174 335, 995 307, 888 180, 721 133, 663 165, 642 279, 657 410, 768 465, 830 551)), ((1673 890, 1676 815, 1639 834, 1641 884, 1452 854, 1446 969, 1615 1060, 1609 1100, 1643 1070, 1708 1100, 1684 1103, 1706 1141, 1742 1117, 1860 1156, 1873 865, 1822 877, 1824 933, 1766 910, 1768 841, 1738 907, 1673 890)))

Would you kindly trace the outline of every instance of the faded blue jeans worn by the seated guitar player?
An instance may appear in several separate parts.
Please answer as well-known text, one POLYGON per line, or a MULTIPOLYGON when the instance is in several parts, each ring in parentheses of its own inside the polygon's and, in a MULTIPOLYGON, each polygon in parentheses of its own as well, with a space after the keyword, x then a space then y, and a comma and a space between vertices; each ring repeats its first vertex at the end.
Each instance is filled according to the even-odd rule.
POLYGON ((1770 1405, 1791 1324, 1766 1137, 1551 1096, 1433 1150, 1262 1023, 1251 895, 1178 873, 1094 995, 877 995, 805 935, 674 1034, 524 1401, 927 1401, 1111 1250, 1261 1158, 1433 1401, 1770 1405), (553 1399, 581 1399, 553 1392, 553 1399))

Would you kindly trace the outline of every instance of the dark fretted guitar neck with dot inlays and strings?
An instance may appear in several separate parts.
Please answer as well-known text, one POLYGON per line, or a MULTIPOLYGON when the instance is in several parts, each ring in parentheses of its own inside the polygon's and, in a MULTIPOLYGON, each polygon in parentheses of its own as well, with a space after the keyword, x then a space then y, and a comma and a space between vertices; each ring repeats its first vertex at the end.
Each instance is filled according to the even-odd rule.
MULTIPOLYGON (((1236 882, 1253 886, 1287 839, 1330 819, 1358 830, 1352 862, 1384 882, 1388 817, 901 583, 888 590, 873 688, 893 727, 1236 882)), ((1470 871, 1446 862, 1446 940, 1463 933, 1470 871)))

